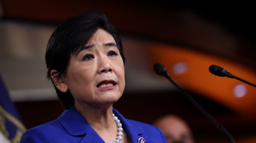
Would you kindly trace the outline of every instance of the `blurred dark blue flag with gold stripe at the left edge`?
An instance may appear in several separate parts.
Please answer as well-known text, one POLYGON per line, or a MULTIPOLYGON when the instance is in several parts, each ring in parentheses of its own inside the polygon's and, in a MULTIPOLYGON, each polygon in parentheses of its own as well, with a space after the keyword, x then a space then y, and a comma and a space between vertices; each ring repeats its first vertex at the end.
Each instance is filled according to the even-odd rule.
POLYGON ((0 142, 19 143, 26 131, 0 77, 0 142))

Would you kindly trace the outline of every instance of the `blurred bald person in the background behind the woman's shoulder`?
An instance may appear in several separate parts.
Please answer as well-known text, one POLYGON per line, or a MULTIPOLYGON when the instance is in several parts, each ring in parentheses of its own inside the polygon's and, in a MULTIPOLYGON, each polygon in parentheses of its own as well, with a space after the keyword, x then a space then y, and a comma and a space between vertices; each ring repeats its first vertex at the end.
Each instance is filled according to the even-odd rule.
POLYGON ((176 115, 165 115, 154 125, 164 133, 167 143, 194 143, 190 127, 176 115))

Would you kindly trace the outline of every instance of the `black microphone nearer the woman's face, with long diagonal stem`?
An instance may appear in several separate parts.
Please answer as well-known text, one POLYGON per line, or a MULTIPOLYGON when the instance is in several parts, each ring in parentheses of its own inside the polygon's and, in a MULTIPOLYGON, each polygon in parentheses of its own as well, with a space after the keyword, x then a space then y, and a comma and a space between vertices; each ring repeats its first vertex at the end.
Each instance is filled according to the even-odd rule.
POLYGON ((210 120, 213 125, 215 125, 215 127, 221 131, 231 143, 235 143, 234 139, 232 138, 232 136, 230 135, 230 133, 227 131, 226 128, 224 128, 218 121, 216 121, 199 103, 197 103, 195 101, 195 99, 193 99, 184 89, 182 89, 177 83, 174 82, 174 80, 171 79, 171 77, 169 76, 169 74, 167 73, 166 68, 160 64, 160 63, 156 63, 154 65, 154 70, 156 72, 156 74, 161 75, 161 76, 165 76, 166 78, 168 78, 170 80, 171 83, 173 83, 180 91, 181 93, 208 119, 210 120))

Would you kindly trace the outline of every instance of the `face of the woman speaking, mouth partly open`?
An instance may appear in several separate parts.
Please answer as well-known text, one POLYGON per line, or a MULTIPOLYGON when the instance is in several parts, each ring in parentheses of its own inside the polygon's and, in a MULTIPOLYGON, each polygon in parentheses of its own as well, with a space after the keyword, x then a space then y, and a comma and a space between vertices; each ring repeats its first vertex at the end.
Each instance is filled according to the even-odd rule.
POLYGON ((123 94, 125 79, 114 38, 98 29, 83 48, 71 54, 65 80, 78 104, 101 106, 116 102, 123 94))

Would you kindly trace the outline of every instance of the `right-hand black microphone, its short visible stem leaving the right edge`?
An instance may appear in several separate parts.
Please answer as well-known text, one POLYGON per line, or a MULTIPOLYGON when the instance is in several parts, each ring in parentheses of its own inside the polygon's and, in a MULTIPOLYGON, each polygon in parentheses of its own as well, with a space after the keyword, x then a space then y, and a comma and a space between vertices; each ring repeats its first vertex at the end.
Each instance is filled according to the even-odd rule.
POLYGON ((247 84, 249 84, 249 85, 251 85, 251 86, 256 87, 255 84, 250 83, 250 82, 248 82, 248 81, 246 81, 246 80, 244 80, 244 79, 242 79, 242 78, 239 78, 239 77, 237 77, 237 76, 235 76, 235 75, 233 75, 233 74, 227 72, 227 70, 225 70, 224 68, 222 68, 222 67, 220 67, 220 66, 211 65, 211 66, 209 67, 209 71, 210 71, 210 73, 212 73, 213 75, 222 76, 222 77, 226 76, 226 77, 229 77, 229 78, 234 78, 234 79, 240 80, 240 81, 242 81, 242 82, 244 82, 244 83, 247 83, 247 84))

